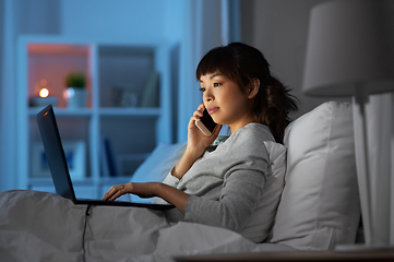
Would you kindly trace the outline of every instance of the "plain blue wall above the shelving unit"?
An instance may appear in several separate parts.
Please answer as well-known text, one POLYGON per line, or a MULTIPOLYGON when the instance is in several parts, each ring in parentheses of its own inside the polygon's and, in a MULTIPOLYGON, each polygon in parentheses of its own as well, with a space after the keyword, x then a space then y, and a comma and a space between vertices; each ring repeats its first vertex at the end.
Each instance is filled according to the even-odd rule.
POLYGON ((61 34, 96 37, 180 38, 186 1, 68 0, 60 2, 61 34))

